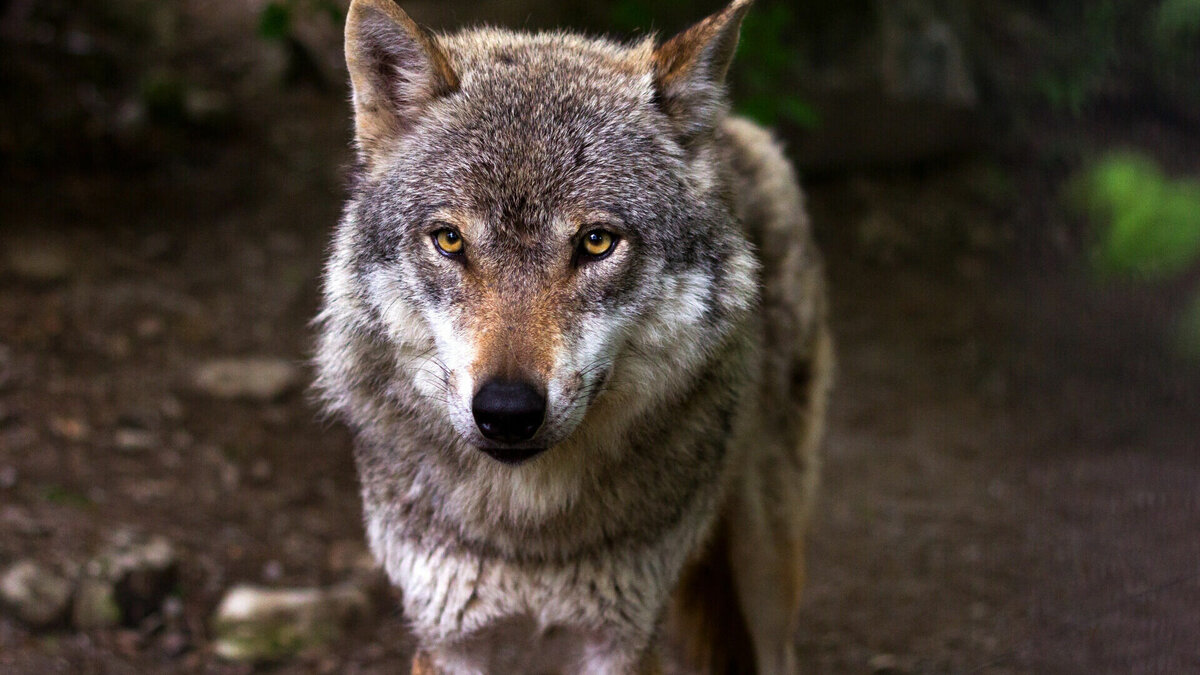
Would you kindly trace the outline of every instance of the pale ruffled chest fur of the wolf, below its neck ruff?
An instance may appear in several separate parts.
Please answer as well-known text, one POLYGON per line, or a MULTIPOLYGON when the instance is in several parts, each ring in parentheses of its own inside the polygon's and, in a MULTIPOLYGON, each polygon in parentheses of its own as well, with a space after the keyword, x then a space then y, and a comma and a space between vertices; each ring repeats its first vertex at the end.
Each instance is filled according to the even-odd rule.
POLYGON ((588 645, 644 646, 694 546, 683 539, 696 536, 680 528, 636 550, 528 563, 382 536, 371 522, 367 530, 422 643, 488 663, 508 661, 503 650, 521 645, 510 656, 541 650, 582 658, 588 645), (566 653, 565 645, 578 653, 566 653))

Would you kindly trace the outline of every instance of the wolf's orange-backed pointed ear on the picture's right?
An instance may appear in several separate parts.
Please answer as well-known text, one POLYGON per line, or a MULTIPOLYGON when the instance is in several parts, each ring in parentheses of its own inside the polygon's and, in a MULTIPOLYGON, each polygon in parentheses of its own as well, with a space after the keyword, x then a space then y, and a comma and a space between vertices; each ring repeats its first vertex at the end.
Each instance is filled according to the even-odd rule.
POLYGON ((685 139, 710 130, 725 109, 725 74, 751 1, 733 0, 654 49, 659 100, 685 139))

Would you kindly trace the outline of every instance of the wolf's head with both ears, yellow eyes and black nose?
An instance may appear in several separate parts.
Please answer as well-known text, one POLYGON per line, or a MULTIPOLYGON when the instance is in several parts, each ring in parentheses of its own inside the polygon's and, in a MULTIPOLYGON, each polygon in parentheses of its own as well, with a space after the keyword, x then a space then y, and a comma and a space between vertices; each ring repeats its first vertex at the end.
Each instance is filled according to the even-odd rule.
POLYGON ((355 0, 362 178, 329 269, 326 393, 353 380, 520 462, 685 390, 755 299, 715 142, 748 6, 622 46, 433 35, 355 0), (352 371, 364 335, 391 356, 352 371))

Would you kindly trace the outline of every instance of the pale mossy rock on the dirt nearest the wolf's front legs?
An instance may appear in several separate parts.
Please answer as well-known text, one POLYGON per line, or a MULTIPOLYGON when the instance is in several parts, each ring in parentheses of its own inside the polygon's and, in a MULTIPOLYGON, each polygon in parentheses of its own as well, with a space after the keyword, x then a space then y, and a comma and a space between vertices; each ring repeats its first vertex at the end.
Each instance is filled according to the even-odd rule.
POLYGON ((320 652, 371 611, 360 587, 235 586, 212 619, 214 650, 230 661, 270 662, 320 652))

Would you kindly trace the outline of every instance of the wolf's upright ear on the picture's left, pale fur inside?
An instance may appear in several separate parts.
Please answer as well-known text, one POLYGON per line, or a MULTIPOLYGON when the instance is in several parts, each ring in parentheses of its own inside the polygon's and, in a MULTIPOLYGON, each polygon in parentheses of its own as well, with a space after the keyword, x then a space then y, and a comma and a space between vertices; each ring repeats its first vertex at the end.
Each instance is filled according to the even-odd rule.
POLYGON ((346 65, 355 138, 365 160, 403 133, 430 102, 458 89, 458 76, 437 38, 392 0, 350 2, 346 65))

